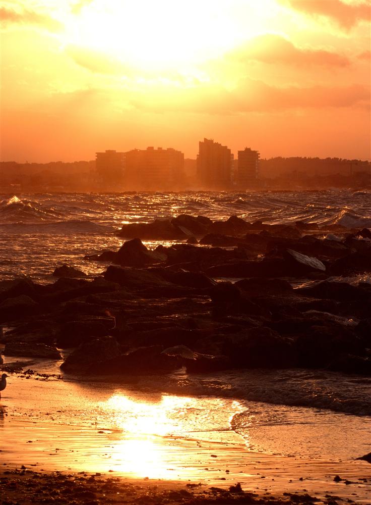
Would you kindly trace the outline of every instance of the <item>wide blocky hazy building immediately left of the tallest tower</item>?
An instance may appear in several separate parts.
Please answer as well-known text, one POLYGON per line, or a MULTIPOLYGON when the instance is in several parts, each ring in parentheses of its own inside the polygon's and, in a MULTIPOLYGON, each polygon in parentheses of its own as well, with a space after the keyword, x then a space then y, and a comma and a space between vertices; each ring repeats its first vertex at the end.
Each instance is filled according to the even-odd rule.
POLYGON ((173 148, 147 147, 125 153, 125 186, 133 189, 178 189, 184 155, 173 148))

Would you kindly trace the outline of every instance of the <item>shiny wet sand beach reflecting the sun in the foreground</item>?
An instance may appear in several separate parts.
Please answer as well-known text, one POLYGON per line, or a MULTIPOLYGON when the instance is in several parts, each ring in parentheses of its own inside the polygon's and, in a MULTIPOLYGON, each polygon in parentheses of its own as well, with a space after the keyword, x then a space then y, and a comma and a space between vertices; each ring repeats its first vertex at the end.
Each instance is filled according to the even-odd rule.
MULTIPOLYGON (((309 494, 328 503, 329 496, 362 504, 370 502, 371 467, 365 461, 320 461, 302 459, 299 454, 284 457, 252 452, 248 450, 242 437, 228 429, 227 425, 210 431, 194 430, 184 436, 155 433, 156 417, 159 418, 160 424, 168 423, 166 431, 171 431, 171 428, 176 431, 176 423, 180 421, 176 420, 175 415, 173 418, 171 416, 174 412, 179 412, 184 401, 193 401, 192 398, 173 396, 166 397, 167 402, 164 402, 163 399, 155 397, 152 401, 147 398, 146 403, 143 397, 133 401, 122 396, 125 398, 125 405, 130 401, 132 403, 129 405, 137 409, 134 413, 137 424, 131 425, 133 419, 123 418, 123 426, 120 425, 119 419, 112 420, 110 426, 104 426, 102 423, 107 421, 107 418, 99 415, 99 409, 102 405, 109 405, 112 398, 118 401, 118 395, 110 385, 82 385, 52 377, 26 377, 27 375, 23 374, 13 374, 9 378, 11 384, 3 392, 0 403, 4 505, 13 502, 48 502, 44 501, 45 497, 55 503, 58 500, 60 503, 86 502, 83 499, 76 500, 75 497, 70 501, 63 501, 65 498, 55 494, 60 488, 59 483, 65 479, 56 475, 55 471, 62 472, 64 476, 70 475, 67 480, 74 483, 67 486, 72 485, 79 489, 81 485, 89 487, 94 484, 93 481, 97 477, 93 477, 92 481, 89 476, 96 472, 102 474, 98 476, 101 480, 99 485, 94 484, 98 490, 92 491, 96 497, 90 498, 91 503, 94 503, 94 500, 96 503, 108 502, 107 496, 103 497, 103 490, 107 488, 106 479, 112 477, 118 479, 114 481, 114 486, 112 484, 113 488, 118 486, 121 491, 112 491, 110 483, 110 499, 114 493, 119 492, 122 495, 126 489, 125 500, 121 502, 129 503, 166 503, 167 498, 164 498, 163 493, 169 489, 186 489, 192 493, 196 490, 197 496, 207 491, 207 499, 212 500, 215 496, 213 498, 211 487, 228 490, 237 482, 241 483, 242 489, 256 492, 261 497, 278 496, 291 500, 289 495, 283 493, 296 493, 309 494), (37 378, 39 380, 36 380, 37 378), (143 425, 142 411, 138 410, 138 406, 142 408, 143 405, 149 425, 143 425), (163 419, 161 410, 164 412, 163 419), (175 423, 174 426, 171 423, 175 423), (149 429, 151 426, 152 433, 149 429), (25 468, 22 469, 22 466, 25 468), (16 469, 18 471, 13 473, 16 469), (4 471, 11 473, 4 474, 4 471), (81 472, 87 473, 87 476, 84 477, 81 472), (337 475, 342 479, 339 482, 334 481, 337 475), (29 479, 31 481, 27 483, 29 479), (32 490, 40 487, 38 482, 47 482, 47 485, 41 486, 44 488, 41 494, 31 493, 30 496, 25 494, 22 498, 17 497, 18 491, 24 490, 26 484, 31 486, 32 490), (199 483, 201 486, 197 488, 187 487, 187 484, 199 483), (153 486, 160 488, 156 490, 153 486), (148 493, 153 501, 149 500, 148 493)), ((194 401, 199 402, 202 399, 196 398, 194 401)), ((220 401, 220 404, 214 405, 216 409, 227 409, 229 405, 227 400, 209 401, 220 401)), ((120 404, 114 405, 117 407, 120 404)), ((193 408, 197 408, 197 403, 193 408)), ((180 424, 178 429, 180 432, 180 424)), ((250 499, 249 496, 233 496, 233 499, 238 496, 238 499, 250 499)), ((196 498, 193 494, 174 494, 172 502, 191 503, 196 498)), ((221 491, 219 498, 229 501, 218 502, 233 502, 230 496, 223 498, 221 491)), ((301 501, 297 499, 296 502, 301 501)))

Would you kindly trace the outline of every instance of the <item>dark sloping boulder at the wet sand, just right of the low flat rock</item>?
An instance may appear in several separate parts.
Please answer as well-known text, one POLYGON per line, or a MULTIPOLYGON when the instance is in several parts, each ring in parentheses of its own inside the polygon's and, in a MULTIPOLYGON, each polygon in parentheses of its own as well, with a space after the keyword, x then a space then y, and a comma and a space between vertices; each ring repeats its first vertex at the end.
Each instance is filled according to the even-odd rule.
POLYGON ((113 337, 94 338, 80 344, 60 365, 60 368, 69 373, 84 373, 88 367, 120 355, 120 346, 113 337))

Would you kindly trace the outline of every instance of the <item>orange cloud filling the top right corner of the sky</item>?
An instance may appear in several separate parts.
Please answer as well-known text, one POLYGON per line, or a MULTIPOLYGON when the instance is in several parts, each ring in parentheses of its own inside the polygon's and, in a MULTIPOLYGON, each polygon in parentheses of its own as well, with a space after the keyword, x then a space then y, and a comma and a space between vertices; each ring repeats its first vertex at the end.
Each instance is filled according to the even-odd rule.
POLYGON ((314 17, 327 17, 349 30, 360 21, 371 20, 370 0, 345 3, 341 0, 279 0, 292 9, 314 17))

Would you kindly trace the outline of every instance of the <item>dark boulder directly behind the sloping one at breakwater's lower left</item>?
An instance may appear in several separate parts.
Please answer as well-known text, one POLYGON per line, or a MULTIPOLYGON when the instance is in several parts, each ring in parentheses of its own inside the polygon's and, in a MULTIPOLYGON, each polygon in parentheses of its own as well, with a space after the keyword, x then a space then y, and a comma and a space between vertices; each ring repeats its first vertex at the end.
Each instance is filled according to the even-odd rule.
POLYGON ((79 319, 61 324, 56 344, 60 348, 77 347, 95 337, 103 337, 114 327, 111 317, 80 316, 79 319))

